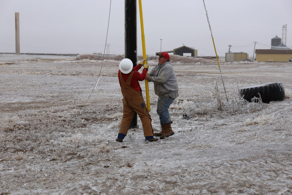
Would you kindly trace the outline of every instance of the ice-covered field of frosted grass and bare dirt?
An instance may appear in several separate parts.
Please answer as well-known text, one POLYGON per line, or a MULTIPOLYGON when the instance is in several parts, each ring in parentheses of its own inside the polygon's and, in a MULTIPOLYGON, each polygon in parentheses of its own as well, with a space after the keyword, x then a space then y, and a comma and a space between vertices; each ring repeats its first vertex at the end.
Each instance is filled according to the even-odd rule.
MULTIPOLYGON (((148 60, 150 69, 156 63, 148 60)), ((122 143, 115 141, 119 61, 0 64, 2 194, 292 193, 292 64, 222 62, 227 102, 215 60, 176 61, 175 134, 145 142, 138 118, 140 128, 122 143), (284 101, 237 104, 238 88, 272 82, 283 83, 284 101)), ((152 126, 160 131, 151 82, 149 91, 152 126)))

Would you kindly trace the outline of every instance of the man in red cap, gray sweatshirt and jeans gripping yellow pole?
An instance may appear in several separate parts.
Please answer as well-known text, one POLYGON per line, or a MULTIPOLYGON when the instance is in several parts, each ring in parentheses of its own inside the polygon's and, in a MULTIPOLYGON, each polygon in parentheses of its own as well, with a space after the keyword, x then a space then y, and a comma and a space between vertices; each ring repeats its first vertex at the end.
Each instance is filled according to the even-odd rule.
POLYGON ((161 52, 157 55, 159 56, 158 64, 149 75, 145 76, 145 79, 154 83, 154 92, 158 95, 156 112, 159 114, 161 131, 154 133, 154 136, 164 139, 174 134, 168 109, 173 100, 178 97, 178 81, 170 63, 169 54, 161 52))

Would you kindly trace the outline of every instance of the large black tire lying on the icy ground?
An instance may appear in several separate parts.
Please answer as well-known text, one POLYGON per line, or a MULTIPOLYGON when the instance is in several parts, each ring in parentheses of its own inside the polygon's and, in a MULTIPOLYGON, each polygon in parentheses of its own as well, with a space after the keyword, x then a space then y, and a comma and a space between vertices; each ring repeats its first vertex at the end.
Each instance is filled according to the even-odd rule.
POLYGON ((283 101, 285 99, 285 91, 282 83, 267 83, 243 87, 240 88, 239 93, 248 102, 251 102, 251 99, 254 97, 261 97, 262 101, 267 104, 271 101, 283 101))

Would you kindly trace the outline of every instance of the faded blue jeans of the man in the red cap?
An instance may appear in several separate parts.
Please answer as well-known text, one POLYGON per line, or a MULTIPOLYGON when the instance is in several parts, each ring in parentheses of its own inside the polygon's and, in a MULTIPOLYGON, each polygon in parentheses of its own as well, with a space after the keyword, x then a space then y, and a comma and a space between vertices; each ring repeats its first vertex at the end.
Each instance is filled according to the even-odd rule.
POLYGON ((172 123, 170 119, 168 108, 172 104, 174 98, 162 97, 161 100, 157 101, 157 114, 159 115, 160 124, 172 123))

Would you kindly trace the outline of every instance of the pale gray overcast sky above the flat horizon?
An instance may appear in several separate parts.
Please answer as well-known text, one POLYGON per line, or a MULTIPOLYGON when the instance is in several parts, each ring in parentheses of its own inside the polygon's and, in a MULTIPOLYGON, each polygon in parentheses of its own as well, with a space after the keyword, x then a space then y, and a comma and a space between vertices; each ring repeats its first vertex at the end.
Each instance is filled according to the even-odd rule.
MULTIPOLYGON (((205 0, 218 56, 253 55, 282 38, 292 47, 292 0, 205 0)), ((0 0, 0 52, 15 52, 15 12, 20 53, 124 54, 124 0, 0 0), (107 35, 107 25, 109 29, 107 35), (107 41, 106 41, 107 35, 107 41), (105 44, 109 44, 109 48, 105 44)), ((142 0, 147 55, 183 45, 215 56, 203 0, 142 0), (162 39, 162 40, 160 40, 162 39)), ((137 0, 138 55, 142 55, 137 0)))

